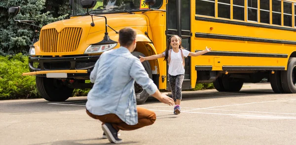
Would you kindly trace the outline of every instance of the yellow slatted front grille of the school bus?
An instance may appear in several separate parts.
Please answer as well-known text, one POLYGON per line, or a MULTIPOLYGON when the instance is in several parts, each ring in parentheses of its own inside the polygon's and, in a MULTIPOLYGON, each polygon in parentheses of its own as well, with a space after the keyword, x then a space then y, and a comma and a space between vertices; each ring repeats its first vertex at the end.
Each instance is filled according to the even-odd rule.
POLYGON ((44 53, 74 52, 77 50, 81 28, 43 29, 40 32, 40 49, 44 53))

